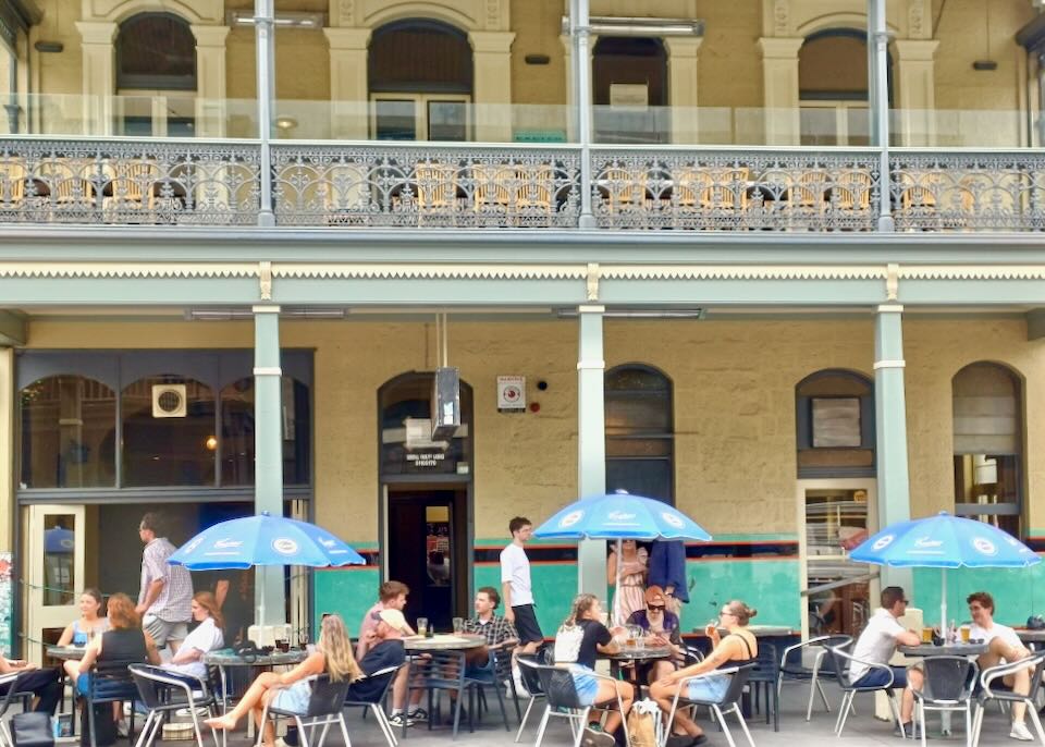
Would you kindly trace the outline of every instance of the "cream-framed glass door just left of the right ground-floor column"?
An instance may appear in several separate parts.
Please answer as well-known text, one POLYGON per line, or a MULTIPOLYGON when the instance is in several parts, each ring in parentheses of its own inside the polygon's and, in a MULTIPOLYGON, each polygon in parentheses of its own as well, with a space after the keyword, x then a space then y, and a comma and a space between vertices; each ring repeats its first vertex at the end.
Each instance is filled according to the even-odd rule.
POLYGON ((876 568, 849 560, 877 531, 877 490, 871 478, 798 480, 802 637, 856 637, 877 605, 876 568))

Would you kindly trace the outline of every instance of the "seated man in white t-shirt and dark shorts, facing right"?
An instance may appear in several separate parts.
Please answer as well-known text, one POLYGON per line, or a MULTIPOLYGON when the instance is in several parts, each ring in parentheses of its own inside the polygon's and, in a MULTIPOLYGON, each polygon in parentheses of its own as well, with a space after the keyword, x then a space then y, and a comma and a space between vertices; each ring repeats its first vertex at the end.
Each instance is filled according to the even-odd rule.
MULTIPOLYGON (((922 642, 921 636, 913 630, 905 630, 903 626, 897 622, 897 617, 902 616, 907 610, 907 596, 903 589, 898 586, 885 587, 882 589, 881 601, 882 607, 871 615, 868 626, 863 628, 852 649, 852 657, 858 661, 849 668, 849 681, 858 687, 885 685, 889 676, 884 670, 871 669, 859 662, 888 666, 897 646, 918 646, 922 642)), ((903 724, 903 732, 910 736, 914 734, 914 724, 911 721, 914 713, 914 694, 911 688, 922 688, 924 682, 922 672, 917 668, 892 666, 890 669, 894 687, 903 688, 900 721, 903 724)))

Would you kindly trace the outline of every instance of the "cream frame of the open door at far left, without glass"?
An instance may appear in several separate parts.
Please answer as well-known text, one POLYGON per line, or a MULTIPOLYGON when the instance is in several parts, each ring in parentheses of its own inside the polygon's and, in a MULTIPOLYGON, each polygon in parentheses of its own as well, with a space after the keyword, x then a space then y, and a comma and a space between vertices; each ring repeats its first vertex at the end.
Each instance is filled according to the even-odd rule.
MULTIPOLYGON (((19 568, 20 577, 25 581, 22 612, 26 633, 25 648, 22 650, 27 661, 42 663, 41 632, 45 628, 64 628, 79 616, 77 604, 84 589, 86 566, 86 506, 82 503, 36 503, 26 505, 24 509, 25 513, 20 516, 20 523, 24 523, 22 538, 25 556, 19 568), (42 599, 46 586, 46 577, 42 576, 45 555, 42 527, 45 518, 53 515, 73 516, 73 597, 70 604, 45 604, 42 599)), ((12 616, 12 627, 15 625, 12 616)), ((14 630, 12 630, 13 634, 14 630)))

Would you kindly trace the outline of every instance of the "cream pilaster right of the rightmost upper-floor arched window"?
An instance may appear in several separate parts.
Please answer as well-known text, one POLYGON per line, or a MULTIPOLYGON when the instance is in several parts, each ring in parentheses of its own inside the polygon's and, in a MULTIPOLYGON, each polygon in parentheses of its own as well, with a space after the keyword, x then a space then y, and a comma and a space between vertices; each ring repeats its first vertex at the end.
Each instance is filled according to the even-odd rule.
POLYGON ((936 144, 936 39, 897 39, 896 90, 900 109, 900 144, 932 146, 936 144))

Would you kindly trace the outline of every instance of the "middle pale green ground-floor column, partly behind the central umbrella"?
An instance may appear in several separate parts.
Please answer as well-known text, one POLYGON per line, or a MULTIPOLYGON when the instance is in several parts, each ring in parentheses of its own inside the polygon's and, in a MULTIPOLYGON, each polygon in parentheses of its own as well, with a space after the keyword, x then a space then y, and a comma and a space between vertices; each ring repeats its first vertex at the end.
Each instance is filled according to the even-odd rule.
MULTIPOLYGON (((580 306, 577 358, 577 490, 580 497, 606 492, 605 370, 602 306, 580 306)), ((606 542, 582 540, 577 547, 577 588, 606 599, 606 542)), ((608 608, 606 608, 608 609, 608 608)))

